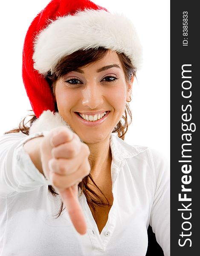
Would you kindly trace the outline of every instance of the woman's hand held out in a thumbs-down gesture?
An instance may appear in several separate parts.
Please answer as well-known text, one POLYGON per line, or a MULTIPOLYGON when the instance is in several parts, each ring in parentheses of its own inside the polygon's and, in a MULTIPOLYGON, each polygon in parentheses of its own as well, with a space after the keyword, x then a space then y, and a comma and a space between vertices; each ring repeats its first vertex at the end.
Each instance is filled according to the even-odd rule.
POLYGON ((90 173, 90 150, 67 127, 52 129, 41 143, 43 173, 61 195, 75 229, 87 231, 86 221, 78 201, 78 183, 90 173))

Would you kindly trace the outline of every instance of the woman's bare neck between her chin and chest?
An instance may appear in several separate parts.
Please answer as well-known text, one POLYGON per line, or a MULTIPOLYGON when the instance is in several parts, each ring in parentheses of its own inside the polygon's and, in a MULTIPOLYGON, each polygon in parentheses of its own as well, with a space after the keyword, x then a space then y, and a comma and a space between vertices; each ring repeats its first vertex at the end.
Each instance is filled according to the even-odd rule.
POLYGON ((110 149, 110 137, 106 138, 100 143, 87 144, 90 148, 90 157, 92 163, 91 175, 95 180, 110 174, 110 167, 112 162, 112 154, 110 149))

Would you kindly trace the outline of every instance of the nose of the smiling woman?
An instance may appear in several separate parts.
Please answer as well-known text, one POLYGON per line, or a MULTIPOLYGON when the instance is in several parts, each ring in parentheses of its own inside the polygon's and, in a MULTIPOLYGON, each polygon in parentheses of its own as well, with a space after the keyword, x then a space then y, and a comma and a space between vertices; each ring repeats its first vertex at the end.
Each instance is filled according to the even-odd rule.
POLYGON ((102 105, 104 102, 102 89, 98 86, 98 84, 95 84, 95 82, 87 84, 82 93, 82 105, 91 109, 98 108, 98 106, 102 105))

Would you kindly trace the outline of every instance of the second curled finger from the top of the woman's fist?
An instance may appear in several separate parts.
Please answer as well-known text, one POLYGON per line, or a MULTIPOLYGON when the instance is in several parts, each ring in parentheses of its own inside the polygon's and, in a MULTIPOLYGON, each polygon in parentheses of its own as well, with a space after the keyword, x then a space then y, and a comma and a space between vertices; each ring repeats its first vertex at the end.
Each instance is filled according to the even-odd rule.
POLYGON ((63 143, 57 147, 52 148, 52 157, 55 158, 72 158, 80 153, 81 142, 73 139, 70 142, 63 143))

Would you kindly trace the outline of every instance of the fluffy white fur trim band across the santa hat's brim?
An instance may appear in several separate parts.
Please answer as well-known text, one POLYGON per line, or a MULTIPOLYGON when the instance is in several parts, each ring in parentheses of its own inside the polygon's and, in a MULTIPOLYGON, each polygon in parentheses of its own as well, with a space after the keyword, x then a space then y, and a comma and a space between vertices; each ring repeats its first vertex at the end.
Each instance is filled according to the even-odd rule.
POLYGON ((138 69, 142 46, 133 23, 123 14, 85 10, 59 17, 35 39, 34 68, 46 75, 58 61, 79 49, 105 47, 123 52, 138 69))

